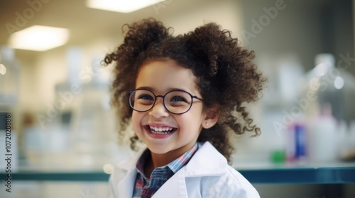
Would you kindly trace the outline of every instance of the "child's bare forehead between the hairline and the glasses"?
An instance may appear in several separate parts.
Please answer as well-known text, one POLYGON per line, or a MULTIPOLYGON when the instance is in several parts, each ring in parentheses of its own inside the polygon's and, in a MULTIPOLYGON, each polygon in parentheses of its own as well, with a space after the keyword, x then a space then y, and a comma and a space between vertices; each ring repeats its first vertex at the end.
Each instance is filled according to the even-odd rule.
POLYGON ((180 89, 197 93, 196 77, 171 59, 143 64, 138 71, 136 88, 148 87, 156 94, 180 89))

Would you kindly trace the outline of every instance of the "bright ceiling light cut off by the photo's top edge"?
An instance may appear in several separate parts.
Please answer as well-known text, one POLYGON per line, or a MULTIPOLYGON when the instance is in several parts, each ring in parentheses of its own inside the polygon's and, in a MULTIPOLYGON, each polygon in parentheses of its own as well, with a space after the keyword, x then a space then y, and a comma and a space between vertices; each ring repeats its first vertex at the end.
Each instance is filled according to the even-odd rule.
POLYGON ((87 7, 105 11, 130 13, 165 0, 87 0, 87 7))

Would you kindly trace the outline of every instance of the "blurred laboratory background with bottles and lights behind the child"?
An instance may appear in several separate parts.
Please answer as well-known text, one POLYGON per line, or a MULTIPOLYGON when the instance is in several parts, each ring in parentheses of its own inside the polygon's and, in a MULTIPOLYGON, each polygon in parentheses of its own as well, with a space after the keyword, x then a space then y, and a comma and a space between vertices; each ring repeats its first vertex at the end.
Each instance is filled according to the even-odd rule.
MULTIPOLYGON (((0 0, 0 154, 11 115, 12 172, 110 174, 132 153, 118 144, 112 66, 100 62, 122 42, 122 25, 147 17, 174 35, 216 22, 256 52, 269 81, 247 106, 262 133, 236 139, 234 167, 355 166, 353 1, 149 0, 136 10, 114 2, 0 0)), ((14 180, 11 193, 0 185, 0 197, 109 196, 107 182, 14 180)), ((355 197, 354 185, 255 187, 261 197, 355 197)))

